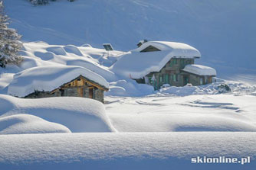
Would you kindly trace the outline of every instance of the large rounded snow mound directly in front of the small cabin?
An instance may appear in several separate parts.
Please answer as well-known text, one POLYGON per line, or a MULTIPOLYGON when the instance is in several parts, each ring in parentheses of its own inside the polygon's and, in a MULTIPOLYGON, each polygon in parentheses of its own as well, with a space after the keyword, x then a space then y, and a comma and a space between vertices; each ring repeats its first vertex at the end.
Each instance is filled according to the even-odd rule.
POLYGON ((30 114, 61 124, 71 132, 115 131, 102 103, 89 98, 21 99, 0 95, 0 116, 30 114))

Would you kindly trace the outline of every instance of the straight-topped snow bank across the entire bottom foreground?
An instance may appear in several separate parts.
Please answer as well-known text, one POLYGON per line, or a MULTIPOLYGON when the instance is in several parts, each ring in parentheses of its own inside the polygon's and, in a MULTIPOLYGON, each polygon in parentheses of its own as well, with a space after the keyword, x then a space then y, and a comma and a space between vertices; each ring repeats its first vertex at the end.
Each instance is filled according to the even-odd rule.
POLYGON ((3 135, 1 169, 253 169, 256 133, 66 133, 3 135), (192 164, 191 158, 251 157, 192 164))

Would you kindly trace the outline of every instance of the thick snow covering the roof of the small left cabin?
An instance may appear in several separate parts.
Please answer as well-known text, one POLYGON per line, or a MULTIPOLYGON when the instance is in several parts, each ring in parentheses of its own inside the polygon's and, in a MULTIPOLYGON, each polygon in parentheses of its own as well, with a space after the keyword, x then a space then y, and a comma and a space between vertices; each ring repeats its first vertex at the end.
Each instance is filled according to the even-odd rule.
POLYGON ((102 76, 84 67, 39 66, 15 74, 13 81, 8 86, 8 95, 25 97, 34 92, 34 90, 52 91, 79 75, 83 75, 104 88, 109 88, 108 82, 102 76))

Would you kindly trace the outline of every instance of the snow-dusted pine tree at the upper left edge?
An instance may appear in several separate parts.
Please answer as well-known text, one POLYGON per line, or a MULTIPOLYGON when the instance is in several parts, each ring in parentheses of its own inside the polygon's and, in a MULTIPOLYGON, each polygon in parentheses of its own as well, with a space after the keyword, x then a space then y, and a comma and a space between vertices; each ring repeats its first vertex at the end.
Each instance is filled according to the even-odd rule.
POLYGON ((0 1, 0 67, 5 67, 7 64, 18 65, 21 62, 21 57, 18 56, 18 51, 21 49, 20 38, 15 29, 8 28, 8 16, 0 1))

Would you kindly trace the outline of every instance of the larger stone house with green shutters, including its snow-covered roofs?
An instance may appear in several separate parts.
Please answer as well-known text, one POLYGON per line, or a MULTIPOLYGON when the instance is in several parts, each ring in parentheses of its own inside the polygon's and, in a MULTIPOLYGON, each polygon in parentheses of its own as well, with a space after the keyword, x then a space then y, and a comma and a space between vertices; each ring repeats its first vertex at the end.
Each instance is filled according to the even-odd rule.
POLYGON ((215 69, 196 65, 201 53, 185 43, 141 41, 138 48, 126 53, 114 64, 113 70, 138 83, 184 86, 212 83, 215 69))

